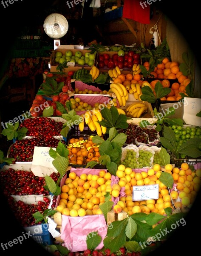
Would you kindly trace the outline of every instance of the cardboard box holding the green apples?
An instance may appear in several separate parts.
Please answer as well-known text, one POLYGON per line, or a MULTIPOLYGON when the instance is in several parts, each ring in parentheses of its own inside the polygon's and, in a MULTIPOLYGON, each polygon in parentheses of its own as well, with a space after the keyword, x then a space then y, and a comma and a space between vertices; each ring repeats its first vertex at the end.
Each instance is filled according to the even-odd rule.
MULTIPOLYGON (((59 70, 57 70, 58 64, 55 63, 55 54, 57 51, 62 52, 63 55, 65 55, 65 52, 71 50, 73 52, 73 55, 75 54, 75 52, 80 51, 82 52, 82 55, 85 55, 86 52, 91 52, 90 50, 81 50, 81 49, 68 49, 68 48, 57 48, 54 50, 54 52, 52 52, 52 54, 50 55, 50 72, 59 72, 59 70)), ((96 58, 95 58, 95 63, 96 63, 96 58)), ((93 66, 89 67, 88 65, 78 65, 75 64, 75 66, 72 67, 67 67, 64 69, 64 73, 68 73, 68 71, 77 71, 79 69, 85 68, 87 70, 91 70, 93 66)))

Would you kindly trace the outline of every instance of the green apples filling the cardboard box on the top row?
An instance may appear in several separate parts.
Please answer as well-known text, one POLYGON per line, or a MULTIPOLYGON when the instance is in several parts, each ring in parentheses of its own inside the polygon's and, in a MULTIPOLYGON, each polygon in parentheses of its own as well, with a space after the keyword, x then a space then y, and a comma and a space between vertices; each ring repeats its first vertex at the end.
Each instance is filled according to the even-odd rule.
POLYGON ((55 63, 63 64, 66 62, 74 62, 78 65, 88 65, 89 67, 93 66, 95 63, 95 54, 91 54, 90 52, 86 52, 85 55, 82 55, 82 52, 77 50, 74 54, 71 50, 67 50, 65 55, 62 55, 62 52, 57 51, 55 53, 55 63))

